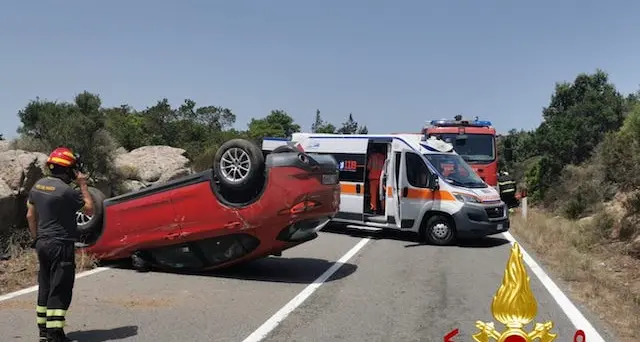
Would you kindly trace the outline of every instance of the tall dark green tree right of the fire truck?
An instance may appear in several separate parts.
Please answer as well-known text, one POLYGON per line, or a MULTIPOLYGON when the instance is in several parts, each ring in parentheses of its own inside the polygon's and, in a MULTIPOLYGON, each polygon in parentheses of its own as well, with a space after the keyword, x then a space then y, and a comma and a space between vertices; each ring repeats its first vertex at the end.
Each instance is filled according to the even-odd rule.
POLYGON ((505 141, 513 157, 503 159, 504 164, 509 167, 511 162, 513 167, 526 161, 528 192, 532 200, 543 199, 561 181, 565 166, 587 161, 605 135, 620 128, 636 99, 623 97, 601 70, 578 74, 573 82, 556 83, 550 104, 543 109, 542 124, 505 141))

